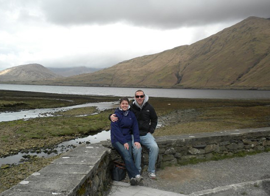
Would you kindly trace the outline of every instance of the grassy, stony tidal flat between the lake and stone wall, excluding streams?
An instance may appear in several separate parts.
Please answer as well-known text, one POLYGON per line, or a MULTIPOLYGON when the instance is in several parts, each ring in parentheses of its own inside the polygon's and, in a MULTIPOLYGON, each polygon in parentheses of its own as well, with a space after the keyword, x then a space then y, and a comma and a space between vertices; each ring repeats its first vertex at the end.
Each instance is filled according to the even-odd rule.
MULTIPOLYGON (((0 112, 117 100, 118 97, 1 90, 0 112)), ((155 107, 159 117, 159 127, 154 136, 270 126, 270 99, 150 98, 149 103, 155 107)), ((1 122, 0 156, 42 149, 91 132, 108 130, 108 115, 111 113, 113 109, 98 112, 95 107, 85 107, 59 112, 52 117, 1 122), (93 113, 96 114, 89 115, 93 113)), ((0 192, 37 172, 56 157, 30 157, 22 164, 3 167, 0 169, 0 192)))

